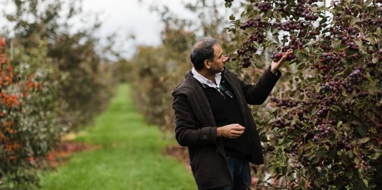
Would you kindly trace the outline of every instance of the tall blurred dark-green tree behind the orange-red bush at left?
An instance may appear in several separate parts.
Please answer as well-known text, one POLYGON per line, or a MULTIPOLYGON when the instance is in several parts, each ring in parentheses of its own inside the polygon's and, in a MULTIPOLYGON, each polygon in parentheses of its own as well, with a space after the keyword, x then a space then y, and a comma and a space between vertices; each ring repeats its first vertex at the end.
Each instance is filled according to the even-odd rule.
MULTIPOLYGON (((101 39, 95 36, 101 23, 89 17, 87 23, 84 21, 76 31, 70 31, 72 25, 69 23, 77 16, 84 16, 79 0, 2 3, 16 8, 5 13, 7 30, 12 31, 5 36, 13 36, 15 47, 22 47, 26 54, 36 51, 35 48, 44 42, 47 46, 45 57, 58 68, 51 81, 59 82, 59 96, 68 104, 60 115, 62 124, 77 130, 79 126, 90 123, 107 106, 116 81, 108 67, 110 62, 101 57, 110 51, 105 50, 100 45, 101 39)), ((112 41, 108 39, 108 43, 112 41)), ((14 60, 14 65, 18 64, 21 62, 14 60)), ((31 65, 30 69, 42 65, 31 65)))

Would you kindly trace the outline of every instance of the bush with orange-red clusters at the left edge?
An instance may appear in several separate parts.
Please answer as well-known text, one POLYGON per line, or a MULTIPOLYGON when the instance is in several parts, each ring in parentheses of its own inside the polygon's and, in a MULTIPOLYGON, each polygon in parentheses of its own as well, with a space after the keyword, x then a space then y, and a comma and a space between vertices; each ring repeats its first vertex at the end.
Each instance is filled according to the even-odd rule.
MULTIPOLYGON (((31 189, 38 184, 36 160, 64 132, 56 120, 61 106, 53 106, 59 101, 52 93, 57 86, 47 80, 51 71, 41 68, 31 73, 26 63, 12 66, 4 46, 0 38, 0 189, 31 189)), ((43 48, 38 53, 43 55, 43 48)), ((42 61, 41 57, 23 55, 19 60, 31 63, 42 61)))

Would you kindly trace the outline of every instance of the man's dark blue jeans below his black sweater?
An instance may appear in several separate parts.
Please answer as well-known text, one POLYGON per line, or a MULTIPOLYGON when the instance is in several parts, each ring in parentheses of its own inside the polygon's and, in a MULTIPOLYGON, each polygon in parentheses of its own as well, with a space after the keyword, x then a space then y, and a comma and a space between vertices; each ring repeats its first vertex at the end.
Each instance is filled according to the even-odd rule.
POLYGON ((251 170, 246 156, 228 156, 228 168, 233 186, 213 188, 213 190, 245 190, 251 189, 251 170))

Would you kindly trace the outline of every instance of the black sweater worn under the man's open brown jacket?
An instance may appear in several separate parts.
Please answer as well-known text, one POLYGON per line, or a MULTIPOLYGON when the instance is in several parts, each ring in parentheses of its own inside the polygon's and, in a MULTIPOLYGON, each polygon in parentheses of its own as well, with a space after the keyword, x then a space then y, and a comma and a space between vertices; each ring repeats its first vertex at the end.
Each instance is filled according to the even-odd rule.
MULTIPOLYGON (((203 88, 204 94, 211 106, 216 126, 220 127, 233 123, 238 123, 241 126, 244 126, 234 95, 231 98, 223 90, 220 90, 221 92, 219 92, 216 88, 203 85, 199 81, 198 83, 203 88)), ((224 77, 222 77, 221 84, 232 92, 231 87, 224 81, 224 77)), ((231 139, 222 137, 222 140, 227 155, 244 156, 251 153, 247 130, 244 130, 244 133, 239 138, 231 139)))

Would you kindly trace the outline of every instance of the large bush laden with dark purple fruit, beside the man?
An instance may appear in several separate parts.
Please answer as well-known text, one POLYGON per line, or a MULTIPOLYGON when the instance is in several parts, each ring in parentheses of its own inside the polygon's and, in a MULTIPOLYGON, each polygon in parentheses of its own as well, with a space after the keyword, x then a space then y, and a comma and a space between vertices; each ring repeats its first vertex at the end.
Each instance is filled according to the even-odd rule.
POLYGON ((230 17, 238 36, 230 58, 241 68, 294 52, 281 69, 288 90, 257 120, 274 171, 268 179, 279 182, 260 185, 382 188, 381 3, 248 0, 239 19, 230 17))

